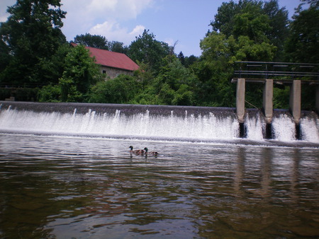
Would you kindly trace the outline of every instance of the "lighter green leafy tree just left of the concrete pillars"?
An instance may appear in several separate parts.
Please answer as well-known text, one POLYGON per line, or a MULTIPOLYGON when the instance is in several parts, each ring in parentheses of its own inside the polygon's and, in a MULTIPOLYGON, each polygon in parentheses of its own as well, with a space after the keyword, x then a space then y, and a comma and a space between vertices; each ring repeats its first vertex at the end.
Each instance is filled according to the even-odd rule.
POLYGON ((230 78, 238 49, 235 38, 213 32, 201 40, 200 45, 202 60, 192 67, 199 79, 198 100, 206 106, 233 107, 235 91, 230 78))

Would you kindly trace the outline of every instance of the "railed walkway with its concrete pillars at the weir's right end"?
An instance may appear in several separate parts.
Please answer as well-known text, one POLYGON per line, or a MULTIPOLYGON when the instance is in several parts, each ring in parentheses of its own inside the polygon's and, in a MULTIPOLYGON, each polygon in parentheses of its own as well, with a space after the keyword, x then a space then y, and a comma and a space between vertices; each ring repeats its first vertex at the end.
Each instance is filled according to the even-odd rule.
POLYGON ((287 85, 290 87, 289 111, 295 123, 295 137, 296 139, 302 139, 301 83, 316 87, 315 109, 319 113, 319 64, 287 62, 236 62, 236 64, 239 64, 240 67, 240 70, 235 71, 235 75, 239 78, 233 78, 232 82, 237 83, 236 112, 238 122, 241 125, 245 123, 246 83, 262 83, 264 84, 262 112, 266 121, 265 138, 273 139, 274 83, 287 85))

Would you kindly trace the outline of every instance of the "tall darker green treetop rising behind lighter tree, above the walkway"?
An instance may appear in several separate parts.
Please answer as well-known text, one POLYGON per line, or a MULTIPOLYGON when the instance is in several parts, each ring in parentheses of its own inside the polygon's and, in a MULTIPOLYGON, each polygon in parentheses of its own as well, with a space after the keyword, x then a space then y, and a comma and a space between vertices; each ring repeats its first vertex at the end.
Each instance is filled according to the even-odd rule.
POLYGON ((223 3, 211 22, 213 31, 223 33, 226 37, 233 35, 237 39, 245 35, 257 44, 266 42, 274 45, 274 59, 283 56, 284 42, 289 35, 288 25, 288 11, 279 8, 277 0, 223 3))

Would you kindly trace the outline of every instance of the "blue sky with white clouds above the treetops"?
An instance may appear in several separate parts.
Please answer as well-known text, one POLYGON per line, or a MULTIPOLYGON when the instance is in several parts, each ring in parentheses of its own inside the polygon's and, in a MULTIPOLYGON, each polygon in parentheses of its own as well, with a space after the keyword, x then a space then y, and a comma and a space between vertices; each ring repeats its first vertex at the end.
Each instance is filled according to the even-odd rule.
MULTIPOLYGON (((236 0, 235 0, 236 1, 236 0)), ((199 42, 205 37, 209 25, 226 0, 62 0, 62 32, 67 40, 76 35, 90 33, 102 35, 109 41, 130 45, 143 31, 155 39, 175 46, 175 53, 184 56, 201 55, 199 42)), ((237 2, 237 1, 236 1, 237 2)), ((300 0, 279 0, 279 7, 289 11, 289 17, 300 0)), ((0 22, 6 21, 7 6, 16 0, 0 0, 0 22)))

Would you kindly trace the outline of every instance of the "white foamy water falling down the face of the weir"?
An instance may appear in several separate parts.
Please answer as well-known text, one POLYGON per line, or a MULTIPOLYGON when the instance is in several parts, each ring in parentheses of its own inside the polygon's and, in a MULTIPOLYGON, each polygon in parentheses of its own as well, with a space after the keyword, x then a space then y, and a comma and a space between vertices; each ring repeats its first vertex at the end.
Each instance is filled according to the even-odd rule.
MULTIPOLYGON (((264 121, 257 115, 247 117, 247 139, 264 139, 264 121)), ((296 127, 287 115, 274 117, 272 123, 274 139, 294 141, 296 127)), ((195 140, 232 140, 239 135, 235 117, 209 114, 185 115, 150 114, 144 110, 134 114, 124 114, 120 110, 113 113, 99 113, 88 110, 86 114, 68 112, 33 112, 31 110, 9 109, 0 111, 0 131, 28 132, 46 134, 71 134, 92 136, 139 137, 144 139, 195 139, 195 140)), ((319 142, 318 119, 306 117, 301 120, 303 140, 319 142)))

